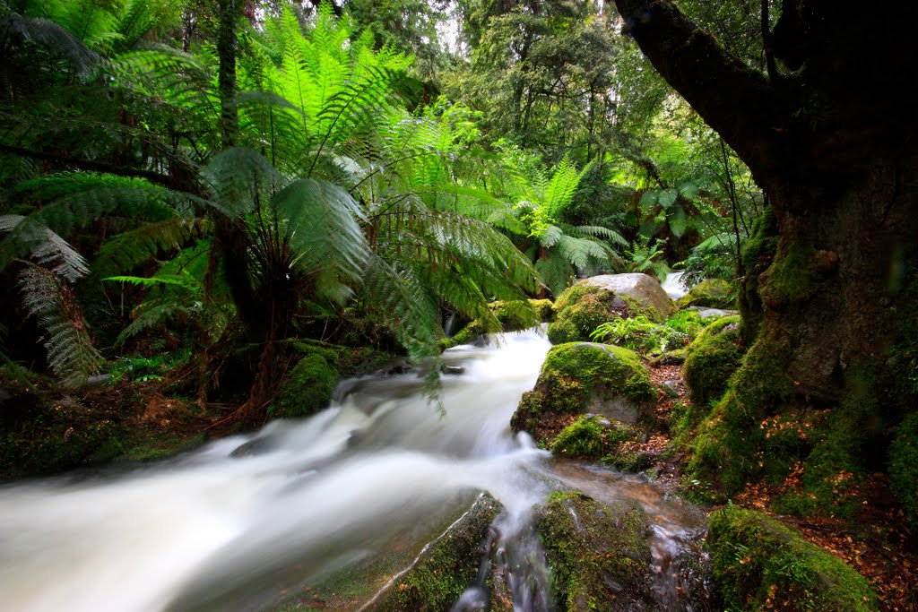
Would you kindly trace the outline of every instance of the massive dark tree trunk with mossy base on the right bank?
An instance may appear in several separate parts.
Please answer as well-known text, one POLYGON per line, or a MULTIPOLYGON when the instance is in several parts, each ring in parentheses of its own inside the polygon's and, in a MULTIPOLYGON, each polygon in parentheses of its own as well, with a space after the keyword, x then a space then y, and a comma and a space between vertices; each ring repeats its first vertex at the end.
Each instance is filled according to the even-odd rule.
POLYGON ((830 440, 804 454, 827 460, 822 469, 856 467, 910 409, 894 395, 890 355, 915 309, 918 121, 901 102, 918 83, 908 32, 918 9, 783 0, 763 28, 763 73, 668 0, 616 5, 655 68, 749 166, 778 231, 770 266, 743 279, 757 287, 742 301, 758 334, 697 466, 735 489, 762 472, 763 419, 829 408, 830 440))

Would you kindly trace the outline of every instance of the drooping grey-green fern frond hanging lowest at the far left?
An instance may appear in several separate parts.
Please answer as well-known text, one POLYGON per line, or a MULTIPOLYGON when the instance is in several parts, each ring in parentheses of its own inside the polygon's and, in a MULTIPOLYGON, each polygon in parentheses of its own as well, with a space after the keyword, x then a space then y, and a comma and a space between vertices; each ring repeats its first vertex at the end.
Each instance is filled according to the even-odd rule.
POLYGON ((39 265, 27 263, 19 291, 30 317, 45 329, 44 346, 50 369, 68 386, 78 386, 99 372, 104 360, 86 333, 75 297, 60 279, 39 265))

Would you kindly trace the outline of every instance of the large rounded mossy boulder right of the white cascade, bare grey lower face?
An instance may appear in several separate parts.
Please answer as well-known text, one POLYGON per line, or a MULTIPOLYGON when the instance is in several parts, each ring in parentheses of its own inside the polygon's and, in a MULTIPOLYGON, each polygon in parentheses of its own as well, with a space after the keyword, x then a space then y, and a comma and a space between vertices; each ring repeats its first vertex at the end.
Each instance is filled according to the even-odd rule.
POLYGON ((548 351, 539 380, 523 394, 510 420, 550 445, 569 418, 593 413, 633 424, 653 413, 656 390, 634 351, 607 344, 571 342, 548 351))

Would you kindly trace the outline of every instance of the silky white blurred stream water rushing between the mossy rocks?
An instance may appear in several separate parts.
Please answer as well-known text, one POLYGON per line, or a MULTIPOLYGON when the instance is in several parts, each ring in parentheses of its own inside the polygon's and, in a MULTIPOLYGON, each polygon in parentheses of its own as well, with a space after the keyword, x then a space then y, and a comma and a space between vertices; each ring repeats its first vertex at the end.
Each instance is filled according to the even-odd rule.
POLYGON ((482 490, 506 507, 493 529, 504 562, 529 565, 511 580, 515 606, 550 609, 529 518, 559 483, 643 506, 665 576, 670 549, 699 525, 686 508, 636 477, 555 463, 511 436, 509 418, 548 349, 532 330, 447 351, 464 372, 443 376, 442 416, 416 374, 371 376, 347 382, 315 417, 171 462, 6 485, 0 610, 263 609, 285 587, 393 547, 413 554, 482 490))

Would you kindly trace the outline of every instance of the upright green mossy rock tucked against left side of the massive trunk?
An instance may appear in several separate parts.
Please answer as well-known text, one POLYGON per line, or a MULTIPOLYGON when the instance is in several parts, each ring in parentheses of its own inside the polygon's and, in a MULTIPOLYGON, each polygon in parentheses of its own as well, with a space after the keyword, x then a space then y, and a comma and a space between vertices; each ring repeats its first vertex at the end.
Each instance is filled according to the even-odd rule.
POLYGON ((723 317, 711 323, 686 349, 683 376, 689 397, 702 409, 719 399, 727 381, 743 361, 740 317, 723 317))

